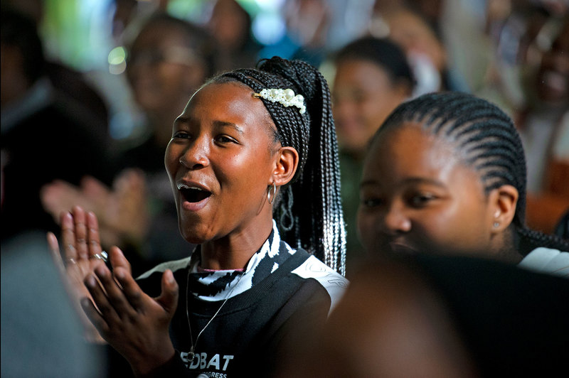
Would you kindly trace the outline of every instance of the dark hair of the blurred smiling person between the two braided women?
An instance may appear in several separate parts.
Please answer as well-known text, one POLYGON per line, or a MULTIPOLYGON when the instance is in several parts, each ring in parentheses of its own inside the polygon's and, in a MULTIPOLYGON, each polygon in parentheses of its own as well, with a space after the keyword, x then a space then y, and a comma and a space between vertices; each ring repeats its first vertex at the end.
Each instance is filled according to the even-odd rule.
POLYGON ((367 60, 385 70, 391 82, 405 82, 410 91, 415 87, 415 76, 405 52, 388 38, 365 36, 348 43, 334 55, 336 65, 345 60, 367 60))

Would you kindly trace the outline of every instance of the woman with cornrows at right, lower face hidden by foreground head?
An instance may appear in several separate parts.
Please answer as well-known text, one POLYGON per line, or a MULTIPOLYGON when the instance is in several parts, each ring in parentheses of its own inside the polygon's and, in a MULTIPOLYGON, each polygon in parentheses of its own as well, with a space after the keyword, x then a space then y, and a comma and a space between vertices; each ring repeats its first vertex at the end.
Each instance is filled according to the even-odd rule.
POLYGON ((525 210, 519 134, 484 99, 422 95, 373 136, 358 210, 368 251, 475 255, 569 278, 569 242, 528 229, 525 210))

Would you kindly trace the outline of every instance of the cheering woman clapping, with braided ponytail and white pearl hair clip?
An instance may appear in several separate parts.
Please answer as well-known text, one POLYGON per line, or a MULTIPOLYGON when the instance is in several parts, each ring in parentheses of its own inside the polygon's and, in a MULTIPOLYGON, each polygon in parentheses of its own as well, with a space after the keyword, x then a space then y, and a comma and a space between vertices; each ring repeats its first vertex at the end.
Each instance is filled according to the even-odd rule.
POLYGON ((270 376, 348 283, 326 80, 278 57, 213 77, 174 121, 164 162, 196 249, 135 280, 117 247, 107 267, 95 215, 76 207, 61 220, 68 280, 138 377, 270 376))

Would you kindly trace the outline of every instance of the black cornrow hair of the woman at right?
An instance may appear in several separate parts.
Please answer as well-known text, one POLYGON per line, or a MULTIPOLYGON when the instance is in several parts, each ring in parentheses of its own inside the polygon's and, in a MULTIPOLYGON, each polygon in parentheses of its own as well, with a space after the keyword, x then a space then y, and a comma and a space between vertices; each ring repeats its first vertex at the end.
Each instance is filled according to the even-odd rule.
POLYGON ((501 185, 518 190, 512 225, 519 253, 525 256, 537 247, 569 250, 562 239, 526 227, 526 159, 514 123, 499 107, 461 92, 422 95, 400 104, 373 139, 407 121, 449 141, 463 163, 479 173, 486 195, 501 185))

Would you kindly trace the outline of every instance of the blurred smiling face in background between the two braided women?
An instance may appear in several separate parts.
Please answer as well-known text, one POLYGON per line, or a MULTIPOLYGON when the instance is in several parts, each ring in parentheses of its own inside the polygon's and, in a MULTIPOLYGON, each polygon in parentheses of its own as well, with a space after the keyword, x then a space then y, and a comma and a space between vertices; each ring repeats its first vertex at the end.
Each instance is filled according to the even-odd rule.
POLYGON ((343 60, 332 90, 338 141, 346 151, 363 152, 371 136, 408 93, 388 73, 368 60, 343 60))

